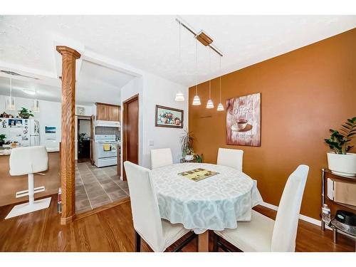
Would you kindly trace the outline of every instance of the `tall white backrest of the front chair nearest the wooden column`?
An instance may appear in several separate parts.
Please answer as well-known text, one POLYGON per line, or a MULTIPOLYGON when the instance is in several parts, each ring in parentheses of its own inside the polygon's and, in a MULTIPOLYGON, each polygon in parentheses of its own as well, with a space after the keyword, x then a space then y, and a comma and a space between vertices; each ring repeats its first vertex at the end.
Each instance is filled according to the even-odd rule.
POLYGON ((128 161, 124 162, 124 166, 130 190, 134 228, 154 251, 161 251, 164 246, 162 221, 150 177, 151 171, 128 161))

